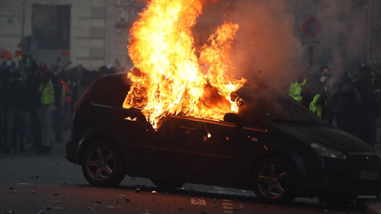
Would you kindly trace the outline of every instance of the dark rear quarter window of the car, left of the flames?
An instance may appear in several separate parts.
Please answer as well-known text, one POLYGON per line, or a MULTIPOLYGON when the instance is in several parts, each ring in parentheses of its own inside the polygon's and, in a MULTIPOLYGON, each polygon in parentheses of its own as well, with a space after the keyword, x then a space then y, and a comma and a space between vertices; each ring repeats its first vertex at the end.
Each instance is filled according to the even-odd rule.
POLYGON ((130 90, 126 77, 115 77, 101 83, 93 96, 94 104, 122 108, 126 95, 130 90))

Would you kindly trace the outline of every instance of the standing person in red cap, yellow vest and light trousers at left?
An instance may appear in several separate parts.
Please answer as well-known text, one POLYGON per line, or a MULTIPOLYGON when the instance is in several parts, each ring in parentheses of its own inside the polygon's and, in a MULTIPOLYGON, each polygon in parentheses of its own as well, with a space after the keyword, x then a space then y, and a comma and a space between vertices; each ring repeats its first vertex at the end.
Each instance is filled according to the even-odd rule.
POLYGON ((37 114, 40 120, 42 147, 37 153, 50 153, 54 141, 53 115, 61 105, 62 85, 56 77, 47 70, 45 63, 40 63, 37 71, 40 85, 40 105, 37 106, 37 114))

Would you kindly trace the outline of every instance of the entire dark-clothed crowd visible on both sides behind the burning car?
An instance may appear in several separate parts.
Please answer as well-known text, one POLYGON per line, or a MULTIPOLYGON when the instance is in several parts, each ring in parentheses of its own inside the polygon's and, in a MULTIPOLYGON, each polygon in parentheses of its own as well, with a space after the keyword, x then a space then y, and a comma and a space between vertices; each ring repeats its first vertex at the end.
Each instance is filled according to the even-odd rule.
MULTIPOLYGON (((117 62, 87 70, 70 62, 49 67, 28 54, 0 62, 0 151, 50 153, 71 129, 75 105, 99 75, 116 73, 117 62), (26 144, 30 147, 26 148, 26 144)), ((328 124, 375 146, 381 125, 381 66, 363 64, 350 78, 323 66, 315 72, 298 73, 288 87, 289 96, 328 124)))

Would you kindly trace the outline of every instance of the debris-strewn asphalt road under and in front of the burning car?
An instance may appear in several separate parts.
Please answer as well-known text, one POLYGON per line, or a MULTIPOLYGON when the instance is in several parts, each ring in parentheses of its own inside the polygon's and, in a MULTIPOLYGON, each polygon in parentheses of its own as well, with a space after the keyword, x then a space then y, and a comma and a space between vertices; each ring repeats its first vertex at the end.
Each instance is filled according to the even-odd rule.
POLYGON ((149 179, 132 177, 126 177, 118 188, 93 187, 86 182, 81 167, 64 158, 64 151, 64 144, 54 144, 50 155, 0 153, 0 213, 10 209, 15 214, 37 214, 40 210, 47 214, 362 213, 355 204, 327 207, 317 198, 297 198, 288 206, 261 204, 252 191, 207 185, 185 184, 165 192, 149 179), (7 193, 10 188, 17 192, 7 193), (141 192, 136 193, 136 188, 141 192))

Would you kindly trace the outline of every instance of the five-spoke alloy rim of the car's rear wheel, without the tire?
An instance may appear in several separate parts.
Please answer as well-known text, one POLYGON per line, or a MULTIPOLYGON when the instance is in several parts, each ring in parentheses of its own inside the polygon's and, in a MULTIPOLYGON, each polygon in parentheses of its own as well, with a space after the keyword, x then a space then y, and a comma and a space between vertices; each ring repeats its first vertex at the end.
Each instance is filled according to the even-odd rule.
POLYGON ((86 169, 89 175, 97 181, 110 177, 114 171, 114 166, 114 154, 106 147, 94 148, 86 159, 86 169))

